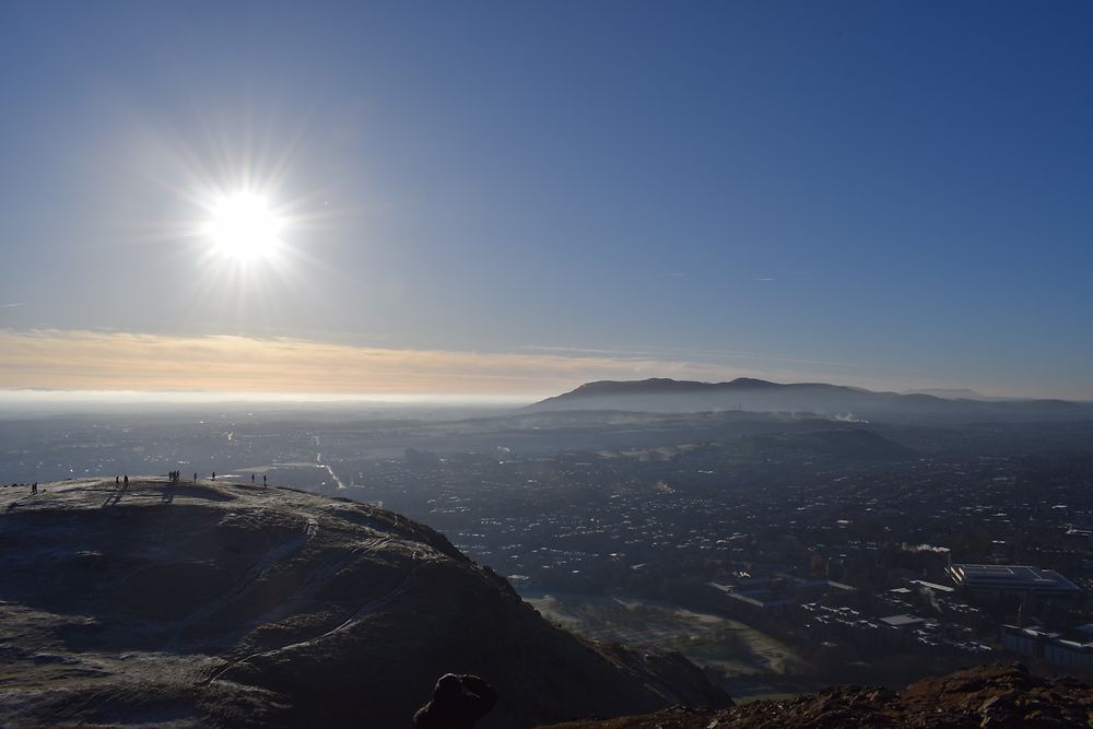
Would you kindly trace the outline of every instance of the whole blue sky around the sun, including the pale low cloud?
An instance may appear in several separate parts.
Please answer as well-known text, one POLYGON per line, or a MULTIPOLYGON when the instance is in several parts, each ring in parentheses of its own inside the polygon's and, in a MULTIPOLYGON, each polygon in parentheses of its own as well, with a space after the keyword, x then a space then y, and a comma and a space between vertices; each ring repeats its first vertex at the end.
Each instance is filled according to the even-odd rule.
POLYGON ((1093 399, 1091 38, 1063 1, 3 2, 0 388, 1093 399), (212 252, 238 191, 275 257, 212 252))

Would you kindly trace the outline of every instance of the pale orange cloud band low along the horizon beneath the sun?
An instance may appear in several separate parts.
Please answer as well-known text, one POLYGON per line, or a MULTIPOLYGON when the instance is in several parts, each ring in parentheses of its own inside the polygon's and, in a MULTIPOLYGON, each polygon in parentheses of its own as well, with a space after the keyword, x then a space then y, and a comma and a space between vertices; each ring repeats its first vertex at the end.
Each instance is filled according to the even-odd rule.
POLYGON ((0 388, 343 395, 553 395, 592 379, 731 379, 645 356, 397 350, 303 339, 0 330, 0 388))

